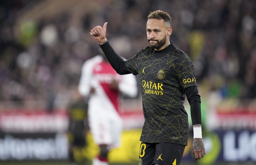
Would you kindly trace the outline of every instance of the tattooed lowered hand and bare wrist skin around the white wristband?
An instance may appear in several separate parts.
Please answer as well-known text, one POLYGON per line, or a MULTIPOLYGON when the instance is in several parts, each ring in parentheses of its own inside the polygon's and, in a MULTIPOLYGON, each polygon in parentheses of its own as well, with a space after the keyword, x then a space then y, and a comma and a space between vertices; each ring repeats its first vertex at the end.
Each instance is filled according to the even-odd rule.
MULTIPOLYGON (((201 127, 201 124, 195 124, 193 127, 199 126, 201 127)), ((195 138, 192 142, 192 152, 197 159, 201 159, 205 155, 205 147, 204 147, 204 141, 202 138, 195 138)))

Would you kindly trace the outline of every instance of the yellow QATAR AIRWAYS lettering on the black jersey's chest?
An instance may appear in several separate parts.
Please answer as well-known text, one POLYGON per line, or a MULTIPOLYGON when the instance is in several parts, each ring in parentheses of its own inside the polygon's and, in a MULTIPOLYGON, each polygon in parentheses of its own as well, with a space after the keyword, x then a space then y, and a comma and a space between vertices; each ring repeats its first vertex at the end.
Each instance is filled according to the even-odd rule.
POLYGON ((155 83, 153 81, 142 81, 142 86, 146 94, 163 95, 162 83, 155 83))

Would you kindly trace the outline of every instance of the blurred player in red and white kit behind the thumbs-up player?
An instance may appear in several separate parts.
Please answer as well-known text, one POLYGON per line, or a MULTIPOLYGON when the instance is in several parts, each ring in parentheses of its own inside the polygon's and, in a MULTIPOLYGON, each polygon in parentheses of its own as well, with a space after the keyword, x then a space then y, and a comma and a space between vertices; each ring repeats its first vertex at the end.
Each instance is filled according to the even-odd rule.
POLYGON ((104 54, 97 55, 85 61, 79 91, 84 97, 89 97, 89 126, 94 141, 100 148, 92 165, 108 165, 108 152, 120 146, 123 126, 120 94, 137 96, 136 77, 132 74, 117 74, 104 54))

